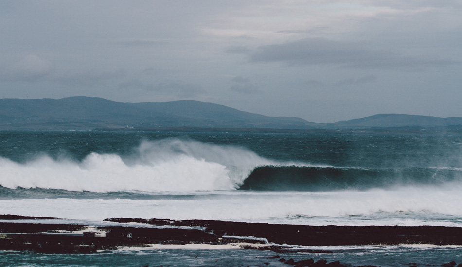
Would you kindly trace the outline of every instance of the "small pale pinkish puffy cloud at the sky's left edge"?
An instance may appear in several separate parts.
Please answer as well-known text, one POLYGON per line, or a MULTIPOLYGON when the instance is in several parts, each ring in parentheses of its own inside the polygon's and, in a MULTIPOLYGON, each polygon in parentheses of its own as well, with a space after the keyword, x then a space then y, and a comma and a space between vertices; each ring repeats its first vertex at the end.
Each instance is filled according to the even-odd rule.
POLYGON ((52 70, 50 61, 31 54, 22 58, 13 67, 1 71, 0 79, 9 82, 34 82, 49 75, 52 70))

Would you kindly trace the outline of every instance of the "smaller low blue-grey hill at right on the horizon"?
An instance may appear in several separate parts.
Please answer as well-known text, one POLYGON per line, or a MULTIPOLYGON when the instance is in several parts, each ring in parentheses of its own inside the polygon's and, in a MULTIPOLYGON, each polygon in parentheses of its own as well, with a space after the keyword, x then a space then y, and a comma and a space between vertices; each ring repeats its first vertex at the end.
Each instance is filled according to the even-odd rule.
POLYGON ((328 128, 335 129, 364 129, 373 127, 448 127, 462 125, 462 117, 439 118, 432 116, 407 114, 376 114, 369 117, 339 121, 332 123, 328 128))

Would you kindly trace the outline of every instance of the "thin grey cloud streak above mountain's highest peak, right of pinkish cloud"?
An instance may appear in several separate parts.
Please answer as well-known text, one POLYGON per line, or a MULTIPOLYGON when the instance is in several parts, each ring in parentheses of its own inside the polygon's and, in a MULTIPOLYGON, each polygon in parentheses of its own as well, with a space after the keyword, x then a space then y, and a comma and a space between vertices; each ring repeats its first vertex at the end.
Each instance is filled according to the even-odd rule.
POLYGON ((127 71, 124 69, 119 69, 115 71, 101 71, 101 70, 91 70, 91 71, 81 71, 81 72, 72 72, 70 74, 64 74, 57 78, 57 81, 65 84, 78 84, 78 85, 95 85, 99 83, 104 83, 109 80, 123 78, 126 75, 127 71))

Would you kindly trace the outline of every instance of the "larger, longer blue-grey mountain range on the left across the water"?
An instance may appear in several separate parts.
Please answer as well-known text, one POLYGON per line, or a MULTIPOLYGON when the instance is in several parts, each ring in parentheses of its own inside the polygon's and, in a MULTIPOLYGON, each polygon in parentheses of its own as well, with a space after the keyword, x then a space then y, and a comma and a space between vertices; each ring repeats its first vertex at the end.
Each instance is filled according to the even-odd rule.
POLYGON ((311 129, 297 117, 268 117, 199 101, 121 103, 94 97, 0 99, 0 129, 221 127, 311 129))

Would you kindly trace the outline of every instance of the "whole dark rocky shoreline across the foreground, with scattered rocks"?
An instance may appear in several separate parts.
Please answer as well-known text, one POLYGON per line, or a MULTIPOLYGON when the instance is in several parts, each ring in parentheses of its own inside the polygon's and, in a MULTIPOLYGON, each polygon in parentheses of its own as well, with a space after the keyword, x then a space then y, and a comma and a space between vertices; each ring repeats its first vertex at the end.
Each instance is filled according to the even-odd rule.
MULTIPOLYGON (((270 250, 291 266, 344 266, 339 262, 285 259, 284 253, 332 253, 300 246, 462 245, 462 228, 440 226, 306 226, 214 220, 110 218, 111 225, 56 223, 57 218, 0 215, 0 250, 97 253, 152 244, 233 245, 270 250)), ((449 264, 449 263, 448 263, 449 264)), ((455 266, 454 264, 453 266, 455 266)), ((448 266, 448 265, 446 265, 448 266)), ((462 267, 462 265, 460 265, 462 267)))

